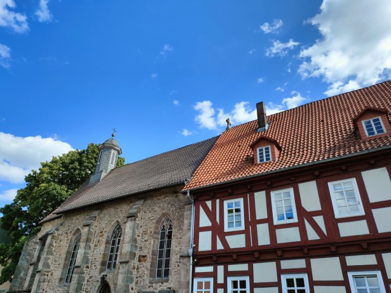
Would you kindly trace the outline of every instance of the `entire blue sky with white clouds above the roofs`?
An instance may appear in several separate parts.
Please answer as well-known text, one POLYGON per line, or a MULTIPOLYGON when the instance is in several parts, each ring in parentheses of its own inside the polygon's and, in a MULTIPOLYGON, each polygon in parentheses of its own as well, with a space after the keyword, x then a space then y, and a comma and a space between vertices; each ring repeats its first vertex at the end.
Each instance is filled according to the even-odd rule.
POLYGON ((130 163, 389 79, 376 3, 0 0, 0 206, 114 126, 130 163))

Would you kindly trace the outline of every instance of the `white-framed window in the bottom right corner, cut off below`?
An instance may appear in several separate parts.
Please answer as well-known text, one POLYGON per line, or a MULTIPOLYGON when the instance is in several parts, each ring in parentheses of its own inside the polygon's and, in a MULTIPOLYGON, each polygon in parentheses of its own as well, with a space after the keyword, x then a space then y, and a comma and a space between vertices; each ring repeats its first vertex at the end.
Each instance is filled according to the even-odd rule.
POLYGON ((352 293, 385 293, 384 283, 379 271, 348 272, 352 293))

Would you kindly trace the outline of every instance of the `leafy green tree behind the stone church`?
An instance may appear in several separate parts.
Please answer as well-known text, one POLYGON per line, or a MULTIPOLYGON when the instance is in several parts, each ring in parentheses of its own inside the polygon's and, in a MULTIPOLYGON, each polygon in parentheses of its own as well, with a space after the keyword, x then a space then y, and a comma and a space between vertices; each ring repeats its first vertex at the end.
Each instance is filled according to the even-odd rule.
MULTIPOLYGON (((40 229, 39 222, 60 206, 95 171, 98 145, 72 150, 50 162, 42 162, 38 171, 25 178, 26 187, 19 189, 13 202, 0 208, 0 227, 6 231, 9 243, 0 243, 0 283, 11 281, 24 243, 40 229)), ((117 167, 125 158, 118 157, 117 167)))

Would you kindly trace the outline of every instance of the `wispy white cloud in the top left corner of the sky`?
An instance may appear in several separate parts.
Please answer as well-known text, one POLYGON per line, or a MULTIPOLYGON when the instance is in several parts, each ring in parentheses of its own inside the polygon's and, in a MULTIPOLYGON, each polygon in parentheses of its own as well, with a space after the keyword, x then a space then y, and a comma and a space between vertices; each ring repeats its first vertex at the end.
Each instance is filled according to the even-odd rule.
POLYGON ((27 17, 9 10, 15 7, 14 0, 0 0, 0 26, 10 27, 17 33, 25 33, 29 30, 27 17))

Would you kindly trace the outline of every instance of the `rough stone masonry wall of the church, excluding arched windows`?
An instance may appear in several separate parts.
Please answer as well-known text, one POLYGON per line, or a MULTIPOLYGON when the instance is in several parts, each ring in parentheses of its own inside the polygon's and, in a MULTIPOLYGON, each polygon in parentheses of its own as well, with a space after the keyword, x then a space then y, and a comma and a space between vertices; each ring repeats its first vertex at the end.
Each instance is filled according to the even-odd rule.
MULTIPOLYGON (((188 292, 190 258, 187 251, 190 241, 191 203, 179 192, 182 187, 183 185, 178 185, 130 196, 66 213, 61 219, 44 223, 37 237, 57 227, 52 231, 51 237, 48 237, 50 244, 45 246, 42 252, 44 255, 41 257, 41 266, 32 292, 96 293, 103 275, 111 292, 188 292), (134 206, 137 206, 137 209, 134 206), (170 216, 174 228, 170 277, 164 282, 150 277, 153 235, 156 221, 162 214, 170 216), (107 239, 118 223, 122 226, 120 251, 123 252, 118 256, 116 269, 107 272, 107 239), (78 229, 82 231, 82 240, 75 273, 72 283, 64 284, 66 252, 78 229)), ((35 247, 28 249, 35 251, 37 243, 31 242, 31 246, 35 247)), ((20 264, 24 267, 26 262, 20 264)), ((28 268, 18 267, 18 270, 26 277, 28 268)), ((20 277, 17 276, 16 279, 18 278, 20 277)), ((20 282, 15 284, 14 290, 22 290, 20 282)))

